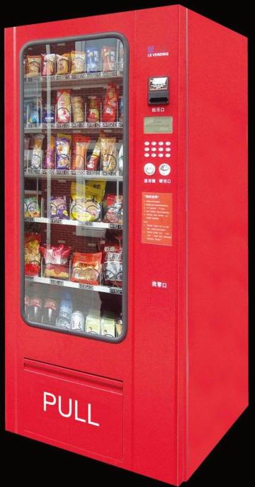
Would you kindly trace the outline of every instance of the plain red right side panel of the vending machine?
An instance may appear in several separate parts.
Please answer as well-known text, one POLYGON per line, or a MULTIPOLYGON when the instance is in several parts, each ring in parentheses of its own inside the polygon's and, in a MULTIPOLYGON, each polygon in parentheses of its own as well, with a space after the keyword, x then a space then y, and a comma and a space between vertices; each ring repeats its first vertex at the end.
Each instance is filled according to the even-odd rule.
POLYGON ((188 11, 187 478, 248 403, 246 43, 188 11))

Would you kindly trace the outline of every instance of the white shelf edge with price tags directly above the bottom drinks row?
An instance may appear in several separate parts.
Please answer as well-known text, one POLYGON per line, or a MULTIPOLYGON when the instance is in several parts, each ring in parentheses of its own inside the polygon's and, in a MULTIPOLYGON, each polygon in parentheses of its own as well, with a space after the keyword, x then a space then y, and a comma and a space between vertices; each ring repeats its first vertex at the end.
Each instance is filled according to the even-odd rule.
POLYGON ((39 282, 41 284, 51 284, 68 288, 85 289, 86 291, 96 291, 98 293, 122 294, 122 289, 110 286, 93 286, 92 284, 81 284, 78 282, 64 281, 63 279, 52 279, 50 277, 26 276, 26 281, 39 282))

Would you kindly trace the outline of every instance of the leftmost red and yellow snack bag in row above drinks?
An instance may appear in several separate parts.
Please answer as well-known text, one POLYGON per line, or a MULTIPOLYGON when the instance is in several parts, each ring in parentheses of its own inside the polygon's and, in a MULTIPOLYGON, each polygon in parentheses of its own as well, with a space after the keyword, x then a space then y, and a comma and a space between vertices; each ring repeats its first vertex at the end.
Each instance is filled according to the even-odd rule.
POLYGON ((39 276, 40 233, 25 233, 25 276, 39 276))

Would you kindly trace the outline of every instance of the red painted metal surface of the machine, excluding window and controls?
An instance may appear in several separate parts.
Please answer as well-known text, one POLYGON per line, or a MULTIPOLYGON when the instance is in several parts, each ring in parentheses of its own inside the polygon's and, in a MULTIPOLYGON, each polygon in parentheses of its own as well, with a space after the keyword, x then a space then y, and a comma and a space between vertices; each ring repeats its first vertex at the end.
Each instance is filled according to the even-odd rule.
POLYGON ((179 485, 246 407, 246 39, 169 6, 8 28, 6 52, 6 429, 179 485), (118 345, 30 328, 19 311, 19 52, 108 31, 130 45, 128 334, 118 345), (152 46, 168 55, 149 56, 152 46), (171 135, 143 133, 157 115, 154 75, 170 77, 171 135), (145 141, 168 140, 171 183, 159 183, 158 160, 157 182, 145 183, 145 141), (142 243, 142 192, 172 194, 171 246, 142 243), (40 437, 45 391, 56 405, 101 403, 107 440, 115 408, 107 451, 92 431, 79 439, 79 422, 55 405, 40 437))

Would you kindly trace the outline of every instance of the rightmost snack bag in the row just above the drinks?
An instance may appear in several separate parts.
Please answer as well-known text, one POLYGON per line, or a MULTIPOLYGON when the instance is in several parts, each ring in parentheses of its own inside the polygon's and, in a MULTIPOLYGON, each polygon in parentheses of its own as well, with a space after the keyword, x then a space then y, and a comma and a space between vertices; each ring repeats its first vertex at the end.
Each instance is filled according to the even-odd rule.
POLYGON ((103 245, 103 283, 106 286, 122 286, 123 248, 117 242, 106 242, 103 245))

